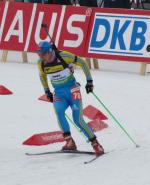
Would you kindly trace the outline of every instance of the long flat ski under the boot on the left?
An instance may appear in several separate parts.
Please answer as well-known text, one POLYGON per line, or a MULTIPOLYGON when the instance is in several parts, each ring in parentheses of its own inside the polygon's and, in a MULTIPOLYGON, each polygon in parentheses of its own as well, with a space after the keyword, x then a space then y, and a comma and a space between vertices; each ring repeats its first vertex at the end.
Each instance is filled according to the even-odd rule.
POLYGON ((35 155, 49 155, 49 154, 88 154, 88 155, 95 155, 94 152, 90 151, 82 151, 82 150, 58 150, 58 151, 50 151, 50 152, 41 152, 41 153, 25 153, 28 156, 35 156, 35 155))

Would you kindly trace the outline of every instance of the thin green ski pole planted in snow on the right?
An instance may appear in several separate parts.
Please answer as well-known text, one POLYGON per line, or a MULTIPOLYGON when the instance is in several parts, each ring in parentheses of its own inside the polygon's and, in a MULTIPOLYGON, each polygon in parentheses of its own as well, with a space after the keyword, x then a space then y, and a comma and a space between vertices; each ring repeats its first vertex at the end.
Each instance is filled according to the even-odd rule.
POLYGON ((132 141, 132 143, 134 143, 136 147, 139 147, 139 145, 134 141, 134 139, 130 136, 127 130, 121 125, 121 123, 115 118, 115 116, 110 112, 110 110, 104 105, 104 103, 100 100, 100 98, 94 92, 92 92, 92 94, 98 100, 98 102, 104 107, 104 109, 111 116, 111 118, 115 121, 115 123, 124 131, 124 133, 128 136, 130 141, 132 141))

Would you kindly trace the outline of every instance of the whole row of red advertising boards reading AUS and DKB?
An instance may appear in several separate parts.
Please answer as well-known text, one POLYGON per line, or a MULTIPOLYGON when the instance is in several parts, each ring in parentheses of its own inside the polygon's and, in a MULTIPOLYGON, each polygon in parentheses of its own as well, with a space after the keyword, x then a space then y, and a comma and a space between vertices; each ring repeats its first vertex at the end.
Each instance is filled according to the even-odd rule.
POLYGON ((150 11, 145 10, 1 2, 0 49, 22 51, 26 58, 41 40, 49 41, 42 23, 61 50, 95 60, 150 62, 150 11))

